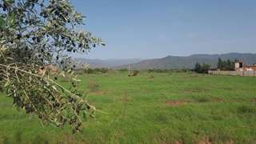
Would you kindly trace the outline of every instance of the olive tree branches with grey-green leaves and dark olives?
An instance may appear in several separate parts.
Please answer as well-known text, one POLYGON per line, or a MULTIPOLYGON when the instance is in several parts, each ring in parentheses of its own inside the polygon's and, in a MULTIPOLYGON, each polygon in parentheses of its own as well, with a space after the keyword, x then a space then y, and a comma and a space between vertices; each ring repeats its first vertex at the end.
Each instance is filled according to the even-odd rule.
POLYGON ((38 114, 42 122, 69 123, 80 130, 82 114, 90 106, 75 90, 78 79, 70 66, 70 53, 86 53, 102 40, 77 30, 84 17, 68 0, 0 1, 0 78, 14 105, 38 114), (58 67, 55 76, 46 66, 58 67), (48 73, 39 73, 39 71, 48 73), (69 90, 56 82, 72 77, 69 90), (55 78, 54 78, 55 77, 55 78))

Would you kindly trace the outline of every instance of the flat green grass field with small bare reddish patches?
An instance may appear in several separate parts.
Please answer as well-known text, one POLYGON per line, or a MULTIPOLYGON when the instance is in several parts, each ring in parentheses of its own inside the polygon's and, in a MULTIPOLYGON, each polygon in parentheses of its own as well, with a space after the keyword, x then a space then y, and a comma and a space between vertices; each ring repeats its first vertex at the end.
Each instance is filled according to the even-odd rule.
POLYGON ((79 89, 108 114, 42 126, 0 95, 0 143, 256 143, 256 78, 193 73, 81 76, 79 89))

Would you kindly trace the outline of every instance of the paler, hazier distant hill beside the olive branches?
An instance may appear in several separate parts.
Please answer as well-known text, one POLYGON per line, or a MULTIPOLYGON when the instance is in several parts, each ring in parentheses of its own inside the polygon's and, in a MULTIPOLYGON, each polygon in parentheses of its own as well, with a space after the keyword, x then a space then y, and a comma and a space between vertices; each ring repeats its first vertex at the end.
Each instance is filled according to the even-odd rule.
POLYGON ((117 66, 124 66, 130 63, 142 62, 142 59, 130 58, 130 59, 86 59, 86 58, 74 58, 74 61, 78 63, 78 67, 82 64, 89 64, 91 68, 113 68, 117 66))

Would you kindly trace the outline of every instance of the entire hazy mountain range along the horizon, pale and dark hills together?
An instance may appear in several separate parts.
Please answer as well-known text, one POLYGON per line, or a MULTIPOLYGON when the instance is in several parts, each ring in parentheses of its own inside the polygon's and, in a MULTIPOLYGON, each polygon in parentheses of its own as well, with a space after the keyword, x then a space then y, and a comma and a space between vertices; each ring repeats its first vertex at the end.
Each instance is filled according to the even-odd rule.
POLYGON ((212 68, 215 68, 218 63, 218 58, 222 60, 242 60, 245 64, 256 63, 256 54, 193 54, 190 56, 167 56, 165 58, 155 59, 110 59, 110 60, 92 60, 77 58, 76 61, 86 62, 90 64, 90 67, 107 67, 114 69, 127 68, 128 65, 132 69, 145 70, 145 69, 193 69, 196 62, 210 64, 212 68))

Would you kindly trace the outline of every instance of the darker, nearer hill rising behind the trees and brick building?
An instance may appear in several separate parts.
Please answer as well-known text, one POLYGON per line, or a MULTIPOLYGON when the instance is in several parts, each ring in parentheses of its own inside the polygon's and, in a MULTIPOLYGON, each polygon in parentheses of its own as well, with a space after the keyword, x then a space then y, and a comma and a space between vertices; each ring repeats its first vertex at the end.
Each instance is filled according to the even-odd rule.
MULTIPOLYGON (((165 58, 149 59, 131 64, 133 69, 193 69, 196 62, 210 64, 216 67, 218 58, 223 60, 241 59, 246 64, 256 63, 256 54, 194 54, 187 57, 167 56, 165 58)), ((117 66, 117 69, 126 68, 127 65, 117 66)))

